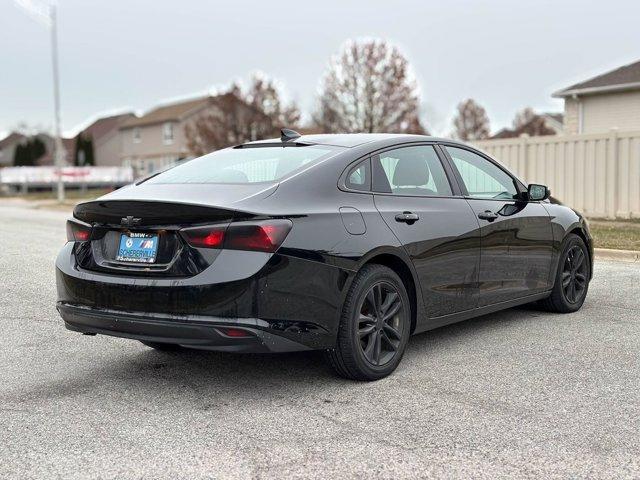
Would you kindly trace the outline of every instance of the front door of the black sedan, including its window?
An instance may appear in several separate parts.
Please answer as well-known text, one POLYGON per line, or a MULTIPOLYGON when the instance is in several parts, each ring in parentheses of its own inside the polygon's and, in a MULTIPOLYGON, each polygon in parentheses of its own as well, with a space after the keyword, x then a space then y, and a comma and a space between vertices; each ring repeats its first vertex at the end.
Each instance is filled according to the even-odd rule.
POLYGON ((497 163, 470 149, 444 146, 480 222, 479 306, 550 288, 551 220, 540 202, 497 163))

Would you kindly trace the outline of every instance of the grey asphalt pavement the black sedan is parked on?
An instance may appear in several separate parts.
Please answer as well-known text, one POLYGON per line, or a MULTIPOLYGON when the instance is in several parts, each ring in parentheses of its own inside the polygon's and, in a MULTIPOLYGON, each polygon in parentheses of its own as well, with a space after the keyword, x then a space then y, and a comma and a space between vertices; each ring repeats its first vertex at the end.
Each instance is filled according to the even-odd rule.
POLYGON ((0 200, 0 478, 639 478, 640 266, 583 309, 414 337, 391 377, 317 353, 158 353, 64 329, 64 213, 0 200))

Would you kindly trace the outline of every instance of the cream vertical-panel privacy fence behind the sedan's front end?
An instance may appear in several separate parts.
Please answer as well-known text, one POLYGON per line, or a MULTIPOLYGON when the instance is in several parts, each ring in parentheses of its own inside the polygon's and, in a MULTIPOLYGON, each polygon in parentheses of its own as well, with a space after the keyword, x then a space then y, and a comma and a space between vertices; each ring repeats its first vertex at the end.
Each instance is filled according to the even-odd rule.
POLYGON ((474 145, 586 216, 640 218, 640 132, 524 135, 474 145))

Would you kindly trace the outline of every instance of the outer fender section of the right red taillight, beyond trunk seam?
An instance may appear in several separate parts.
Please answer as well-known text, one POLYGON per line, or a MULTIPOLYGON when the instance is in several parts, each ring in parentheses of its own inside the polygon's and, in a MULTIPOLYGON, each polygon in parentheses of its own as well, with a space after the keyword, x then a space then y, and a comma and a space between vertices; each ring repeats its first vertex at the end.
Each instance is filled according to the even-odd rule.
POLYGON ((238 222, 229 226, 224 248, 275 252, 291 230, 289 220, 257 223, 238 222))

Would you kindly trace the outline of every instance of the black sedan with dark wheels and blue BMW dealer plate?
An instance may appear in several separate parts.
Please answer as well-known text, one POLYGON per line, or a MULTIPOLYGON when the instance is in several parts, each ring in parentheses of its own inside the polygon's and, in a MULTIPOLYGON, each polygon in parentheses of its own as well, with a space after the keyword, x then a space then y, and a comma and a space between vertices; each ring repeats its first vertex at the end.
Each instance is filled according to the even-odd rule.
POLYGON ((68 329, 160 350, 321 349, 375 380, 409 337, 530 302, 573 312, 587 223, 482 152, 416 135, 220 150, 78 205, 58 256, 68 329))

